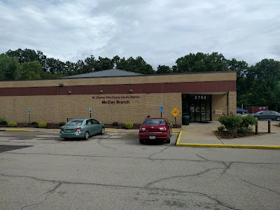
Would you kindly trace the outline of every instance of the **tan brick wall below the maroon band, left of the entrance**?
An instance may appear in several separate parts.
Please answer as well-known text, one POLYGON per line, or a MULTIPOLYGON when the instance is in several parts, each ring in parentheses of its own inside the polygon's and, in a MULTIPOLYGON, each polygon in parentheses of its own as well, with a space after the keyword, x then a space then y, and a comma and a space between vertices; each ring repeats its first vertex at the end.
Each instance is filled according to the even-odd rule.
MULTIPOLYGON (((104 99, 98 97, 101 95, 1 97, 0 117, 17 123, 28 123, 28 108, 30 108, 31 122, 59 123, 66 121, 66 118, 89 117, 89 106, 92 106, 92 118, 96 118, 102 123, 125 123, 127 121, 142 123, 148 115, 160 117, 159 106, 162 105, 162 117, 168 118, 174 123, 172 109, 176 107, 181 111, 181 93, 102 94, 104 99), (115 104, 102 104, 102 101, 110 101, 115 104), (117 104, 117 101, 129 104, 117 104)), ((178 125, 181 125, 181 113, 176 121, 178 125)))

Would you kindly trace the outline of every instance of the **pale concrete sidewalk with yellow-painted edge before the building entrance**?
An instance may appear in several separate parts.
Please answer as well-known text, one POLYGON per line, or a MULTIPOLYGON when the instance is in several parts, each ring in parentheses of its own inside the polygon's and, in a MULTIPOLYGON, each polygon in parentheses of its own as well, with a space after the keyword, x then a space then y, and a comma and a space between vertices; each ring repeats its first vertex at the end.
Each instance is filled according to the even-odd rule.
POLYGON ((182 125, 176 146, 280 149, 280 127, 275 126, 278 123, 271 121, 271 133, 268 134, 267 120, 258 121, 258 132, 266 132, 266 134, 240 139, 218 139, 214 134, 214 130, 221 126, 218 121, 190 123, 190 125, 182 125))

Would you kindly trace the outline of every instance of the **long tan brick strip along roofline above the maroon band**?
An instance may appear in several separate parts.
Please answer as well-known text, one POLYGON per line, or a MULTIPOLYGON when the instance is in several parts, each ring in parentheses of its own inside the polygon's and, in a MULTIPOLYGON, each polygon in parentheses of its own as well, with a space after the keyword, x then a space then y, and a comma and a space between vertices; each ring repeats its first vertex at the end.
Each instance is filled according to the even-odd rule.
POLYGON ((211 72, 211 73, 181 73, 167 75, 145 75, 109 78, 72 78, 55 80, 29 80, 29 81, 3 81, 1 87, 50 87, 72 85, 114 85, 114 84, 143 84, 143 83, 180 83, 236 80, 236 72, 211 72))

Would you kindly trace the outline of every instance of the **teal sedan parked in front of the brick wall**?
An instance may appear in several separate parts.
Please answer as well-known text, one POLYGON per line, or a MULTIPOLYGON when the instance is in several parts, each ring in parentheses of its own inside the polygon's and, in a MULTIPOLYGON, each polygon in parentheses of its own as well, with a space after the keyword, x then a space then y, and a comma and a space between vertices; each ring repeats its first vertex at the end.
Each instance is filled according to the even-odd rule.
POLYGON ((60 137, 66 139, 88 139, 94 134, 104 134, 103 123, 92 118, 73 119, 60 128, 60 137))

